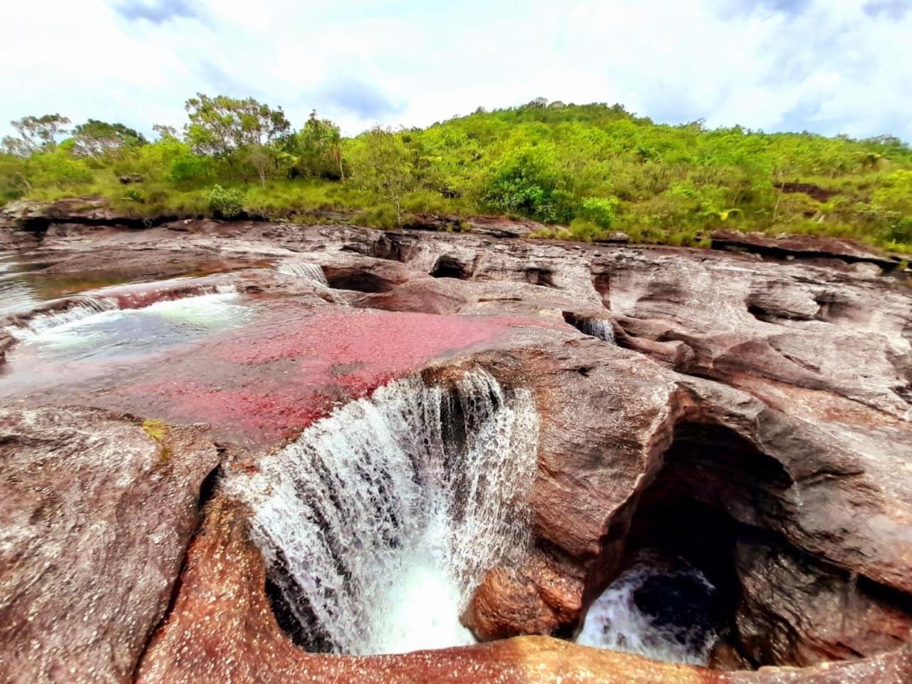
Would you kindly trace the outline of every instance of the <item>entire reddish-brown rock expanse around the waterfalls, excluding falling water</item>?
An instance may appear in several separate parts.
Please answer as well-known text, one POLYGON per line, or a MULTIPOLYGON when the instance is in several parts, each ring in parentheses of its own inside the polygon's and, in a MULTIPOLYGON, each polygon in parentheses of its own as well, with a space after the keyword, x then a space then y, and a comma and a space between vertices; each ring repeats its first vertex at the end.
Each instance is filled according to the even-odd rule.
MULTIPOLYGON (((29 212, 47 218, 46 208, 20 211, 29 212)), ((0 324, 10 492, 0 510, 6 534, 26 540, 4 547, 16 548, 5 552, 0 603, 7 679, 127 681, 138 661, 137 678, 149 682, 912 675, 903 648, 912 296, 876 259, 69 218, 37 236, 25 230, 48 275, 102 275, 116 259, 127 279, 147 283, 117 295, 129 292, 128 304, 217 285, 254 314, 116 363, 58 368, 36 357, 47 382, 25 370, 33 347, 8 332, 40 312, 0 324), (302 263, 318 271, 282 267, 302 263), (157 282, 174 275, 187 280, 157 282), (579 321, 604 324, 617 346, 579 321), (214 479, 202 486, 212 498, 184 558, 202 480, 219 462, 220 477, 255 471, 261 454, 393 378, 475 366, 530 389, 540 414, 534 550, 482 578, 462 616, 476 637, 572 637, 631 555, 658 544, 720 586, 730 662, 803 667, 714 672, 544 636, 403 656, 308 654, 275 622, 249 513, 214 479), (164 420, 167 440, 123 410, 164 420), (207 427, 180 427, 199 422, 207 427), (84 492, 98 492, 95 513, 84 492), (107 502, 116 502, 110 519, 107 502), (53 549, 60 555, 48 557, 53 549), (67 553, 79 562, 64 562, 67 553), (67 577, 72 596, 59 589, 67 577), (63 676, 70 670, 76 679, 63 676)), ((25 234, 23 220, 10 219, 6 244, 25 234)), ((72 296, 40 306, 67 309, 72 296)))

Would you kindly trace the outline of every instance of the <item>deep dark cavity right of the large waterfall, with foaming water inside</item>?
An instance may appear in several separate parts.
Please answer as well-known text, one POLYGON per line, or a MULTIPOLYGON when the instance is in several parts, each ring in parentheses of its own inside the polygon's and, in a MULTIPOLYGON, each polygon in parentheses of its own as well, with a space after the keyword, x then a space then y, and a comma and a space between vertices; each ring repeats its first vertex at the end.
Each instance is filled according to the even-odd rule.
POLYGON ((777 493, 791 482, 733 430, 679 425, 662 470, 624 514, 623 541, 625 525, 612 526, 617 541, 606 544, 616 554, 625 548, 605 568, 611 584, 587 588, 592 604, 578 640, 704 665, 720 644, 737 652, 735 549, 748 526, 732 513, 759 520, 781 512, 777 493))

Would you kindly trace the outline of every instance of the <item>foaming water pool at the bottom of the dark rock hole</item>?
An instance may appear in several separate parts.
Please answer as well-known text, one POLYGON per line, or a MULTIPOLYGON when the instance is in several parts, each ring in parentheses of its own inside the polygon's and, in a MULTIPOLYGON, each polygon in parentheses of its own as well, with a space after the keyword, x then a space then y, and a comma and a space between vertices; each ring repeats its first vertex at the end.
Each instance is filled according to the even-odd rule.
POLYGON ((699 570, 647 552, 589 607, 576 643, 706 665, 721 625, 719 592, 699 570))

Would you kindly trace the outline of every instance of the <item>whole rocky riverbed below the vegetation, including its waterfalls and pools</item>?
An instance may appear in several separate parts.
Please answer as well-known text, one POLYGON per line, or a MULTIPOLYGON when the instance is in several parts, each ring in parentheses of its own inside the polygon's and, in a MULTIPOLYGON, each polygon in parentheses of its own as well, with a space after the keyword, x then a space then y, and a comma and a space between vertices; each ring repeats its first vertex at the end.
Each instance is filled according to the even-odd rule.
POLYGON ((912 679, 896 260, 74 206, 0 229, 0 679, 912 679))

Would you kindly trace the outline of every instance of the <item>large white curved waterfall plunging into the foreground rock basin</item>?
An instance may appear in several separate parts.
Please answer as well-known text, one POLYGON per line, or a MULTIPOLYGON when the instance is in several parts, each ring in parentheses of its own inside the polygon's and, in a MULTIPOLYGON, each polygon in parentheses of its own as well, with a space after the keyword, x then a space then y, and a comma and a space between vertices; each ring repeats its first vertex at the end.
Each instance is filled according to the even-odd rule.
POLYGON ((397 380, 226 482, 304 645, 398 653, 473 642, 482 574, 530 543, 531 393, 480 368, 451 389, 397 380))

